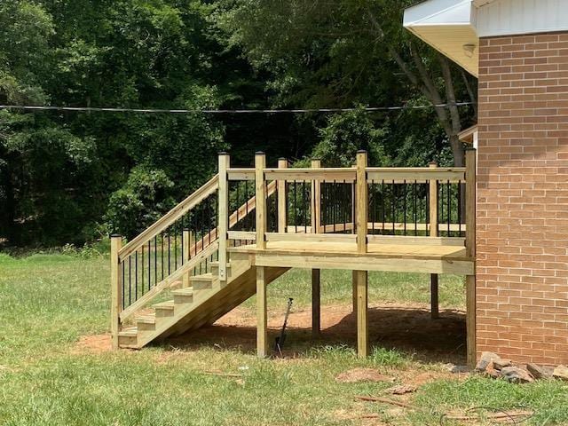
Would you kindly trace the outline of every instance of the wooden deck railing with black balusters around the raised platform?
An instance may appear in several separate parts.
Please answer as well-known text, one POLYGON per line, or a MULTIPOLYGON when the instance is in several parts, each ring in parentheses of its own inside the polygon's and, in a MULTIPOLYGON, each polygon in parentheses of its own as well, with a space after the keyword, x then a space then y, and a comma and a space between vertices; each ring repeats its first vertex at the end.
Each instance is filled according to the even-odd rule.
POLYGON ((357 164, 343 169, 322 168, 319 161, 289 169, 285 160, 269 168, 263 153, 256 154, 255 169, 231 169, 225 156, 219 176, 229 182, 226 196, 234 203, 235 191, 246 198, 254 188, 260 202, 255 220, 231 228, 220 244, 255 241, 263 249, 267 241, 351 241, 363 253, 369 242, 471 246, 475 202, 467 200, 475 201, 468 197, 475 191, 475 151, 466 156, 466 167, 374 168, 359 152, 357 164))

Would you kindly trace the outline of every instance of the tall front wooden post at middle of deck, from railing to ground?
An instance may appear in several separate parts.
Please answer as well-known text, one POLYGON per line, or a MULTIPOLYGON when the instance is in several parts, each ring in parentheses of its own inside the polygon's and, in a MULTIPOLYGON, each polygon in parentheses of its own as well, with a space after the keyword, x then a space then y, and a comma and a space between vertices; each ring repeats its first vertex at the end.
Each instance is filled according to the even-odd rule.
MULTIPOLYGON (((367 253, 367 224, 368 224, 368 201, 367 201, 367 152, 357 153, 357 183, 356 183, 356 227, 357 227, 357 251, 359 254, 367 253)), ((367 318, 367 289, 368 272, 355 271, 353 278, 357 287, 357 355, 359 358, 367 358, 369 352, 369 332, 367 318)))

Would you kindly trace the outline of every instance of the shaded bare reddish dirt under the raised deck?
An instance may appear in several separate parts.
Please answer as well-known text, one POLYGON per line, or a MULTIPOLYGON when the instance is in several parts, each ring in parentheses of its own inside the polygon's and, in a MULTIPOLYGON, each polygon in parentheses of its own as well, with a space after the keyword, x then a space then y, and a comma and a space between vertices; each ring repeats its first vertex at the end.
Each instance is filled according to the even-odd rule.
MULTIPOLYGON (((312 337, 310 312, 290 315, 286 358, 303 358, 314 347, 346 344, 355 348, 357 343, 357 317, 347 308, 323 307, 321 334, 312 337)), ((192 351, 202 346, 226 351, 256 352, 255 319, 222 319, 218 323, 199 330, 171 337, 162 343, 176 350, 192 351)), ((430 312, 419 308, 380 307, 369 308, 369 340, 374 348, 401 351, 414 360, 424 363, 466 362, 465 313, 441 311, 439 319, 431 319, 430 312)), ((282 318, 272 318, 269 323, 269 342, 273 344, 280 330, 282 318)), ((272 348, 271 348, 272 349, 272 348)), ((274 354, 276 355, 276 354, 274 354)))

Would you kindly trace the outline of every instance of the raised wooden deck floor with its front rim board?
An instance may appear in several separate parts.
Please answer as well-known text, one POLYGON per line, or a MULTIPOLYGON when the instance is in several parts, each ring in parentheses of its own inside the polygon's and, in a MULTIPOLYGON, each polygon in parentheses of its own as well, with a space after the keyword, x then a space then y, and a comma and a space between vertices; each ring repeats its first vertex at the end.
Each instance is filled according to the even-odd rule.
POLYGON ((267 241, 264 250, 250 244, 229 251, 251 256, 257 266, 474 274, 473 260, 463 246, 455 244, 369 242, 367 253, 359 254, 351 241, 267 241))

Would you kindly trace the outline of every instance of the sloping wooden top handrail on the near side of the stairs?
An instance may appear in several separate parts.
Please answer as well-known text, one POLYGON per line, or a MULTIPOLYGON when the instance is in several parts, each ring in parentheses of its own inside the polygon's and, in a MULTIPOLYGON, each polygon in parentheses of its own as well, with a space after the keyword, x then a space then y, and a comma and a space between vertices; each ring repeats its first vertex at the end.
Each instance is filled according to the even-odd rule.
POLYGON ((171 209, 168 213, 166 213, 166 215, 156 221, 154 225, 151 225, 146 229, 146 231, 140 233, 136 238, 126 244, 118 253, 119 261, 122 262, 124 258, 130 256, 132 253, 138 250, 140 246, 145 244, 150 239, 154 238, 154 236, 158 235, 159 233, 162 233, 162 231, 168 228, 168 226, 176 222, 179 217, 184 216, 185 213, 193 209, 193 207, 209 197, 209 195, 215 193, 218 186, 219 175, 215 175, 205 185, 202 185, 201 188, 192 193, 184 201, 181 201, 179 204, 177 204, 176 207, 171 209))

